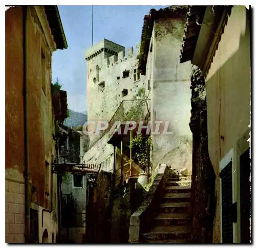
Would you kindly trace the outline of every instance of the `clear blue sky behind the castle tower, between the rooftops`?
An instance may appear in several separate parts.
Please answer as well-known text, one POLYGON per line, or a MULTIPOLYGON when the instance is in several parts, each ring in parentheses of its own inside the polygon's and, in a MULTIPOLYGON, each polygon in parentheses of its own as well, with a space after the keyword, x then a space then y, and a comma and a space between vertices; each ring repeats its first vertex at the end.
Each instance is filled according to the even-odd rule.
MULTIPOLYGON (((144 15, 152 8, 166 6, 94 6, 94 44, 105 38, 127 47, 136 47, 141 38, 144 15)), ((68 49, 53 53, 52 79, 67 90, 69 108, 83 112, 86 103, 86 60, 92 44, 92 6, 58 6, 68 49)))

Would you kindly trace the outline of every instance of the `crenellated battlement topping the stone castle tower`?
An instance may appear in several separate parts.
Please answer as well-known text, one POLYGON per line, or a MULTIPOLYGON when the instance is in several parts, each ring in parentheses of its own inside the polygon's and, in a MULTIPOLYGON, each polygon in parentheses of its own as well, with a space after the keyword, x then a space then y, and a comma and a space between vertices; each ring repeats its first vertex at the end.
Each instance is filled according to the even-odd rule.
POLYGON ((85 53, 85 59, 91 61, 93 58, 97 60, 97 56, 101 55, 99 66, 101 68, 114 66, 124 61, 137 58, 140 53, 140 44, 136 45, 136 52, 134 48, 126 48, 112 41, 103 39, 99 43, 88 48, 85 53), (103 56, 103 57, 102 57, 103 56))

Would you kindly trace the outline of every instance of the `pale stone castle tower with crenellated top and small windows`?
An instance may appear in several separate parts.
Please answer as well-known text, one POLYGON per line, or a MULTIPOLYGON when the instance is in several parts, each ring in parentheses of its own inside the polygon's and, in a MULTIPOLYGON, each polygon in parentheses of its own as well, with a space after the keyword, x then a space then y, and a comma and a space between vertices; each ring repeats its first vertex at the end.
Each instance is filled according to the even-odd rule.
POLYGON ((123 100, 132 100, 144 87, 138 72, 139 45, 127 48, 103 39, 88 48, 87 107, 88 120, 110 120, 123 100))

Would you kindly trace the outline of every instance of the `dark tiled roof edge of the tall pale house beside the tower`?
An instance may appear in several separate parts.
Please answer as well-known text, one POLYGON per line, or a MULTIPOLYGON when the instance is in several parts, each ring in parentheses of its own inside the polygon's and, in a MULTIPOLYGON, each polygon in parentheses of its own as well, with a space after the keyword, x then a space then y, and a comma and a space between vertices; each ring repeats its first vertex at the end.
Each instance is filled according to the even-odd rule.
POLYGON ((144 16, 144 23, 141 34, 139 70, 142 75, 145 75, 147 55, 150 49, 150 40, 154 27, 154 21, 157 19, 172 18, 179 15, 184 15, 188 10, 188 6, 169 6, 164 9, 151 9, 150 14, 144 16))

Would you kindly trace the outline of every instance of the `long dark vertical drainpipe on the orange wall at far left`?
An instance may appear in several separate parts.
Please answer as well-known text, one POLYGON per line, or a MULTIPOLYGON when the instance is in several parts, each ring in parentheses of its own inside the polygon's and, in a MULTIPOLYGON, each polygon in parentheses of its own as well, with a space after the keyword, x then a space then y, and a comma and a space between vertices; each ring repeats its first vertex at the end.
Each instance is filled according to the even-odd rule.
POLYGON ((22 7, 23 12, 23 84, 24 84, 24 143, 25 143, 25 242, 30 242, 30 199, 31 185, 29 182, 29 132, 28 132, 28 92, 27 92, 27 6, 22 7))

